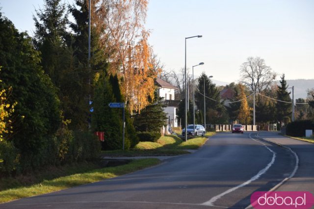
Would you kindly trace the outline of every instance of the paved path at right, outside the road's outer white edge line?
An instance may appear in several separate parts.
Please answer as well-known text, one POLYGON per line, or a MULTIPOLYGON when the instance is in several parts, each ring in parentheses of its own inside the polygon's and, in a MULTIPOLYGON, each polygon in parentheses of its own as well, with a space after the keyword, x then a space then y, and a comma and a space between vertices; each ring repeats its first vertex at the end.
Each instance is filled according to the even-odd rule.
POLYGON ((277 133, 261 131, 259 136, 291 148, 299 157, 294 177, 277 188, 277 191, 310 191, 314 194, 314 144, 291 139, 277 133))

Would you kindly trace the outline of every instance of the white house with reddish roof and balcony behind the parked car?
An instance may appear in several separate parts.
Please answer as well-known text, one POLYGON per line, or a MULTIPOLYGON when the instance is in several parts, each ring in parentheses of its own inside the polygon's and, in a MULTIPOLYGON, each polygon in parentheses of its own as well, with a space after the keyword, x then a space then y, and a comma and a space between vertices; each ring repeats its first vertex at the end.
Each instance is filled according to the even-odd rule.
POLYGON ((156 78, 156 84, 159 97, 162 97, 161 103, 166 106, 164 112, 167 113, 167 124, 171 127, 178 127, 177 109, 180 100, 175 100, 175 90, 178 88, 161 78, 156 78))

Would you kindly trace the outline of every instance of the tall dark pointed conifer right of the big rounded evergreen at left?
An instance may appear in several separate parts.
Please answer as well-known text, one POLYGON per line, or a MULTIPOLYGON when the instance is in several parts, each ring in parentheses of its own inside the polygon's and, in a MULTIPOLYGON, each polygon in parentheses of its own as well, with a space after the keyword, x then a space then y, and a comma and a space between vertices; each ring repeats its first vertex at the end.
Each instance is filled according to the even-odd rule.
POLYGON ((73 38, 66 31, 68 12, 61 0, 45 0, 36 10, 34 44, 41 52, 41 65, 58 89, 65 120, 71 129, 87 129, 89 84, 86 70, 72 48, 73 38))

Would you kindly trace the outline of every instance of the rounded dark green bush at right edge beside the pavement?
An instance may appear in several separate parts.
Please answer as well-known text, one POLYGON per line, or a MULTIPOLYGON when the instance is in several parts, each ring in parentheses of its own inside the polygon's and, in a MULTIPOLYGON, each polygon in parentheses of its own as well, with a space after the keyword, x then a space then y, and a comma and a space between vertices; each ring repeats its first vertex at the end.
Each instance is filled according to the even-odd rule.
POLYGON ((314 130, 314 122, 310 120, 294 121, 287 125, 287 135, 305 136, 305 130, 314 130))

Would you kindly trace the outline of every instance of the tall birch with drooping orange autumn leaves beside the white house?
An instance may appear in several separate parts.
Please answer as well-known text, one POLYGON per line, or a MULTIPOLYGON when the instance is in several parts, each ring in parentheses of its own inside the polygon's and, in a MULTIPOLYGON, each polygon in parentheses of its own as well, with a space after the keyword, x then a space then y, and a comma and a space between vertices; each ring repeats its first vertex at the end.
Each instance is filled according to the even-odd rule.
POLYGON ((154 69, 150 58, 153 50, 145 30, 148 0, 103 0, 105 35, 102 41, 109 56, 111 74, 121 81, 122 94, 129 110, 139 112, 154 98, 154 69))

